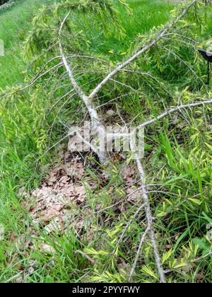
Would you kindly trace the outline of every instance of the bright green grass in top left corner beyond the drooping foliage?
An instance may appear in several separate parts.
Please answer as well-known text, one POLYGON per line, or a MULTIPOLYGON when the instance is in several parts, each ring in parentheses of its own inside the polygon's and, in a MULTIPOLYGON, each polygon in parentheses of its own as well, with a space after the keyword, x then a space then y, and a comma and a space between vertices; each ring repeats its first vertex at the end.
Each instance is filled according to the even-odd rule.
POLYGON ((7 11, 0 13, 0 39, 4 41, 5 57, 0 58, 0 88, 23 83, 27 66, 21 55, 22 42, 32 28, 33 18, 42 6, 54 0, 18 0, 7 11))

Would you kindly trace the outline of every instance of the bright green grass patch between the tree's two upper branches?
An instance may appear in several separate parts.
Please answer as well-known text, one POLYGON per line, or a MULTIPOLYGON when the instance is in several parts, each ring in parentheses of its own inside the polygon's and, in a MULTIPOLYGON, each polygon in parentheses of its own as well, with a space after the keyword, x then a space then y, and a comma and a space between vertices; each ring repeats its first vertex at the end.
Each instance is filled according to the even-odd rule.
POLYGON ((120 19, 126 30, 124 40, 117 40, 112 34, 107 40, 98 31, 92 30, 94 35, 91 42, 91 51, 98 54, 110 55, 108 51, 113 50, 114 56, 119 59, 122 52, 128 52, 131 42, 138 34, 145 34, 151 28, 157 27, 168 21, 172 4, 165 4, 163 1, 129 1, 129 6, 133 9, 131 15, 127 14, 123 8, 120 9, 120 19))

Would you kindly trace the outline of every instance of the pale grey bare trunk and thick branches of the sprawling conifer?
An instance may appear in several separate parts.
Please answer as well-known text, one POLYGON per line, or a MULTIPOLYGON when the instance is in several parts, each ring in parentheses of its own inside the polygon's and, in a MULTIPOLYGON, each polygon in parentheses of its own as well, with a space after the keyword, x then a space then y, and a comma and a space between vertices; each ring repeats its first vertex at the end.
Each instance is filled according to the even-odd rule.
MULTIPOLYGON (((73 75, 74 67, 71 68, 71 66, 69 66, 69 63, 67 62, 67 58, 66 58, 66 55, 64 53, 62 42, 61 42, 61 32, 62 32, 62 29, 64 27, 64 23, 66 23, 67 18, 69 18, 69 15, 70 15, 71 11, 69 11, 69 13, 66 14, 64 20, 61 22, 61 26, 59 28, 59 51, 60 51, 62 63, 64 65, 65 69, 66 69, 66 72, 69 74, 69 78, 71 80, 71 84, 72 84, 73 88, 75 89, 75 91, 78 94, 79 98, 81 98, 81 100, 83 101, 83 103, 87 107, 87 110, 88 110, 88 113, 90 115, 90 119, 91 119, 91 122, 92 122, 93 132, 96 132, 98 134, 98 138, 100 140, 100 147, 98 148, 98 151, 96 151, 96 148, 92 148, 92 149, 93 149, 93 151, 96 151, 98 153, 98 156, 100 157, 100 162, 102 164, 108 164, 109 163, 109 155, 107 153, 107 149, 106 149, 107 145, 106 145, 106 141, 105 141, 108 134, 106 133, 105 125, 102 123, 102 120, 100 119, 100 116, 98 115, 97 107, 95 107, 93 105, 93 99, 96 97, 96 95, 98 95, 98 93, 103 88, 103 86, 105 86, 109 81, 114 81, 116 83, 119 83, 119 81, 114 80, 114 76, 116 74, 118 74, 119 71, 122 71, 122 69, 124 69, 127 65, 131 64, 131 62, 134 62, 134 60, 136 58, 140 57, 141 54, 144 54, 149 49, 151 49, 151 47, 157 45, 158 42, 160 40, 162 40, 163 37, 165 37, 165 35, 167 35, 167 33, 170 32, 170 29, 174 28, 175 25, 177 25, 177 22, 179 20, 181 20, 181 18, 183 18, 185 16, 185 14, 189 10, 189 8, 191 8, 194 4, 196 4, 197 1, 198 0, 191 1, 182 10, 182 12, 179 14, 179 16, 174 21, 172 21, 172 23, 167 25, 160 33, 158 33, 158 35, 155 38, 153 38, 153 40, 151 40, 148 43, 148 45, 146 45, 141 50, 136 52, 132 57, 127 59, 122 64, 119 64, 119 66, 117 66, 117 68, 115 68, 112 72, 110 72, 110 74, 108 74, 105 77, 105 79, 103 79, 103 81, 98 84, 98 86, 93 90, 92 93, 90 93, 90 95, 86 95, 83 92, 82 87, 78 85, 78 83, 77 83, 77 81, 76 81, 76 79, 75 79, 75 77, 73 75)), ((126 86, 126 84, 124 84, 124 83, 121 83, 121 84, 122 84, 122 86, 129 87, 129 86, 126 86)), ((133 90, 133 91, 135 91, 135 90, 133 90)), ((139 125, 139 127, 137 127, 137 129, 146 127, 146 126, 148 126, 150 124, 153 124, 153 123, 157 122, 158 120, 163 119, 167 115, 170 115, 173 112, 177 112, 178 110, 182 110, 182 108, 191 108, 191 107, 196 107, 196 106, 199 106, 199 105, 206 105, 206 104, 209 104, 209 103, 211 104, 212 100, 206 100, 206 101, 202 101, 202 102, 199 102, 199 103, 191 103, 191 104, 187 104, 187 105, 179 105, 179 106, 177 106, 175 108, 172 108, 170 110, 167 110, 167 111, 163 112, 162 115, 159 115, 158 117, 155 117, 155 119, 149 120, 148 122, 145 122, 145 123, 139 125)), ((109 134, 109 136, 112 136, 112 135, 109 134)), ((120 135, 118 134, 118 137, 119 136, 120 135)), ((129 136, 129 134, 128 134, 128 136, 129 136)), ((123 137, 123 134, 122 134, 122 137, 123 137)), ((131 151, 134 151, 133 144, 131 144, 131 151)), ((154 252, 154 255, 155 255, 155 264, 156 264, 156 267, 158 269, 160 282, 165 283, 166 282, 165 273, 163 271, 162 263, 161 263, 161 260, 160 260, 160 254, 159 254, 159 251, 158 251, 157 240, 156 240, 155 231, 154 231, 154 228, 153 228, 154 219, 153 219, 153 215, 152 215, 152 211, 151 211, 151 202, 149 200, 148 191, 147 191, 147 187, 146 187, 146 174, 145 174, 145 172, 143 170, 143 165, 142 165, 142 163, 141 163, 141 161, 139 159, 139 156, 137 154, 135 156, 135 160, 136 160, 136 165, 137 165, 139 175, 140 175, 143 205, 141 205, 139 207, 139 209, 134 214, 134 217, 139 215, 139 212, 143 208, 145 209, 145 212, 146 212, 146 231, 141 235, 139 248, 138 248, 138 250, 136 252, 136 258, 134 260, 134 264, 133 264, 133 267, 131 269, 131 273, 130 273, 130 276, 129 276, 129 281, 131 280, 131 277, 134 274, 134 270, 136 269, 136 264, 137 264, 137 262, 139 260, 139 255, 140 255, 143 243, 144 243, 144 241, 146 239, 146 236, 149 234, 150 238, 151 238, 151 244, 153 246, 153 252, 154 252)), ((120 242, 120 240, 122 240, 122 238, 124 237, 124 234, 126 233, 127 229, 131 225, 131 221, 132 220, 130 220, 129 223, 126 225, 126 228, 124 229, 124 232, 122 233, 121 238, 119 238, 119 242, 120 242)))

